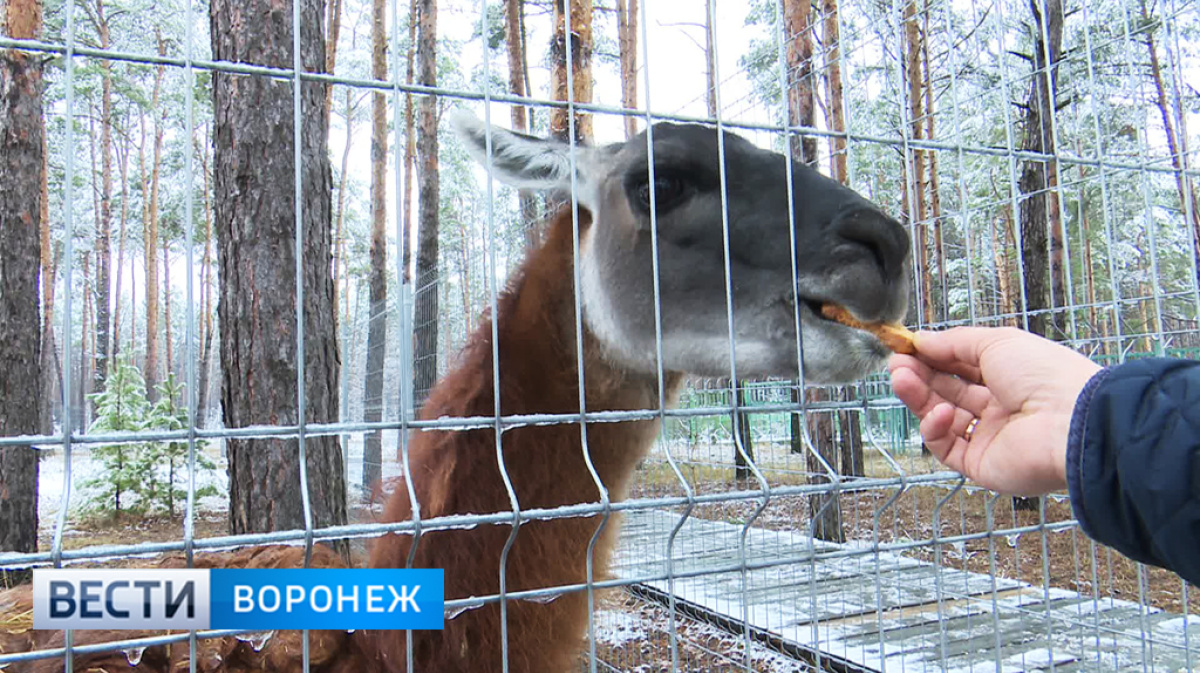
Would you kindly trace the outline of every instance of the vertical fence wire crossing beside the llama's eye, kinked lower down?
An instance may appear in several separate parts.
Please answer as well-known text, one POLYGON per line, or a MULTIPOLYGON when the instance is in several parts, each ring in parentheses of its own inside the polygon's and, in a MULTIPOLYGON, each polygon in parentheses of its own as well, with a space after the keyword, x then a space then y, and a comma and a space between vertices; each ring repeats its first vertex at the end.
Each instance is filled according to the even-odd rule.
MULTIPOLYGON (((649 36, 646 30, 646 24, 648 23, 648 17, 646 12, 647 2, 638 4, 638 29, 642 37, 642 82, 646 85, 643 91, 644 101, 644 116, 646 116, 646 150, 647 150, 647 181, 654 185, 654 119, 652 115, 653 107, 650 106, 650 92, 653 88, 650 86, 650 49, 649 49, 649 36)), ((654 356, 655 356, 655 375, 658 378, 659 387, 659 423, 660 428, 666 425, 666 384, 665 375, 662 371, 662 294, 659 277, 659 216, 658 216, 658 192, 654 188, 650 192, 650 271, 654 282, 654 356)), ((660 437, 661 437, 660 429, 660 437)), ((674 545, 678 539, 679 531, 683 529, 684 524, 691 517, 692 510, 696 507, 695 489, 691 483, 683 475, 683 470, 679 469, 679 463, 676 461, 671 451, 670 441, 662 443, 662 450, 666 455, 667 464, 671 467, 671 471, 674 473, 676 479, 683 487, 684 497, 688 504, 684 506, 684 511, 672 527, 671 533, 667 535, 666 546, 666 573, 667 573, 667 620, 668 620, 668 632, 667 641, 668 648, 671 650, 671 669, 679 671, 679 631, 678 631, 678 605, 676 595, 676 576, 674 576, 674 545)), ((594 641, 593 641, 594 642, 594 641)))

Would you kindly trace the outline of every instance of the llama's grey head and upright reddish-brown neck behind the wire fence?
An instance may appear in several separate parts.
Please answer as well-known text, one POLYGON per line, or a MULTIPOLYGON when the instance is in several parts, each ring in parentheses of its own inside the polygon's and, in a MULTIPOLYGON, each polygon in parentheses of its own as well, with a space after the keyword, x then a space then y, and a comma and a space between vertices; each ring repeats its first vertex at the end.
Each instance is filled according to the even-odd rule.
MULTIPOLYGON (((496 310, 499 401, 493 390, 491 320, 484 320, 454 371, 431 392, 421 416, 571 414, 578 411, 578 368, 588 411, 658 409, 672 404, 684 375, 730 373, 722 187, 718 131, 656 124, 648 134, 607 146, 539 139, 458 114, 456 131, 497 178, 524 188, 569 192, 578 203, 582 353, 576 350, 575 227, 571 209, 552 216, 496 310), (486 148, 491 143, 488 161, 486 148), (648 162, 653 161, 650 184, 648 162), (571 170, 575 170, 574 180, 571 170), (661 298, 662 390, 659 398, 650 218, 656 212, 661 298), (497 403, 498 402, 498 403, 497 403)), ((724 136, 728 270, 737 372, 742 378, 805 378, 838 383, 878 368, 887 350, 868 332, 826 320, 835 302, 864 320, 898 320, 907 302, 908 241, 894 220, 856 192, 732 133, 724 136), (790 194, 794 217, 790 220, 790 194), (792 226, 790 226, 792 223, 792 226), (794 263, 792 234, 794 230, 794 263), (797 317, 803 355, 797 348, 797 317)), ((637 462, 659 431, 656 421, 595 422, 587 450, 613 500, 622 499, 637 462)), ((595 503, 578 423, 522 426, 504 432, 503 461, 522 510, 595 503)), ((421 517, 511 511, 492 429, 416 432, 409 469, 421 517)), ((385 507, 389 522, 412 517, 404 488, 385 507)), ((503 569, 508 591, 581 584, 600 517, 529 521, 520 527, 503 569)), ((446 600, 499 593, 509 525, 426 533, 416 567, 445 569, 446 600)), ((604 576, 617 535, 611 519, 594 551, 604 576)), ((404 567, 408 535, 386 535, 372 567, 404 567)), ((509 601, 508 669, 562 673, 575 665, 589 614, 584 593, 540 603, 509 601)), ((421 672, 500 671, 498 603, 448 619, 444 631, 413 633, 421 672)), ((359 632, 372 669, 407 669, 406 638, 359 632)))

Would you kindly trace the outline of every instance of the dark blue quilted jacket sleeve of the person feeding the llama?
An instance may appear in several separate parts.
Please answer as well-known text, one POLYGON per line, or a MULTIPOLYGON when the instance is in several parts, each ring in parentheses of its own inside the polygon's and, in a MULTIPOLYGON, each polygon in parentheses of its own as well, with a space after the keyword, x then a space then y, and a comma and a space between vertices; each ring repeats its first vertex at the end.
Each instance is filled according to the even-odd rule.
POLYGON ((1067 483, 1084 533, 1200 583, 1200 362, 1096 374, 1075 402, 1067 483))

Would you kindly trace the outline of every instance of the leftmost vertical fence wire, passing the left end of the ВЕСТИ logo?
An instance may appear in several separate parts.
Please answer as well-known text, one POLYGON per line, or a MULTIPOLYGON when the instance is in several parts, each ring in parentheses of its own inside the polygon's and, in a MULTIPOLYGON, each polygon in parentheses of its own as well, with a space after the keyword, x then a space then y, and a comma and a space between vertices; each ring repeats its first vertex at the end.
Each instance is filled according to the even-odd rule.
MULTIPOLYGON (((67 2, 67 47, 64 58, 66 71, 66 157, 64 167, 64 214, 62 223, 65 228, 62 244, 64 258, 67 264, 66 278, 64 280, 62 300, 62 362, 64 374, 61 377, 62 391, 62 499, 59 503, 58 516, 54 522, 54 537, 50 542, 50 557, 54 559, 54 567, 62 567, 62 533, 67 525, 67 506, 71 504, 71 440, 74 435, 74 419, 71 417, 71 318, 74 312, 71 310, 74 292, 72 281, 74 276, 74 2, 67 2)), ((84 347, 80 342, 80 367, 83 367, 82 354, 84 347)), ((86 404, 86 402, 84 403, 86 404)), ((84 408, 79 409, 80 419, 88 417, 84 408)), ((74 631, 67 629, 64 633, 65 653, 62 654, 62 668, 65 673, 74 671, 74 657, 71 650, 74 647, 74 631)))

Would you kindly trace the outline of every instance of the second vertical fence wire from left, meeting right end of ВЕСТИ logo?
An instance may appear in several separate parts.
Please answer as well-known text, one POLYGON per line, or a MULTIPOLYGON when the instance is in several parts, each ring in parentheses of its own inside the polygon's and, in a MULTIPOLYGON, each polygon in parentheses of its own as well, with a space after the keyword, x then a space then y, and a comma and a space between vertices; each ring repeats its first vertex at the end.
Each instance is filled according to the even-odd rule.
MULTIPOLYGON (((184 22, 185 25, 185 38, 184 38, 184 82, 186 84, 187 94, 185 95, 185 120, 187 124, 187 150, 184 152, 184 173, 187 175, 187 193, 184 198, 184 235, 187 239, 185 245, 187 254, 187 283, 186 283, 186 298, 187 298, 187 311, 185 312, 185 325, 184 334, 187 341, 187 369, 184 373, 187 380, 184 381, 184 390, 187 391, 187 504, 186 513, 184 515, 184 554, 187 558, 187 567, 194 566, 194 535, 196 535, 196 278, 193 269, 196 268, 196 223, 193 222, 194 216, 194 202, 196 202, 196 175, 194 175, 194 162, 192 158, 192 139, 194 138, 194 108, 196 108, 196 72, 192 70, 192 23, 193 23, 193 0, 187 0, 186 10, 187 19, 184 22)), ((200 151, 208 151, 206 148, 200 148, 200 151)), ((169 274, 170 270, 168 269, 169 274)), ((120 298, 118 298, 120 301, 120 298)), ((167 298, 170 301, 170 298, 167 298)), ((208 307, 205 307, 208 310, 208 307)), ((132 312, 132 310, 131 310, 132 312)), ((118 335, 120 338, 120 335, 118 335)), ((169 485, 169 488, 174 488, 174 485, 169 485)), ((188 631, 187 633, 187 669, 190 673, 196 673, 196 631, 188 631)))

